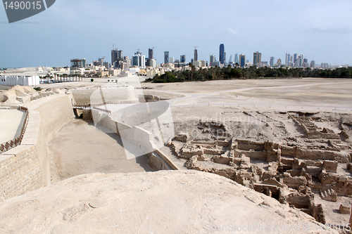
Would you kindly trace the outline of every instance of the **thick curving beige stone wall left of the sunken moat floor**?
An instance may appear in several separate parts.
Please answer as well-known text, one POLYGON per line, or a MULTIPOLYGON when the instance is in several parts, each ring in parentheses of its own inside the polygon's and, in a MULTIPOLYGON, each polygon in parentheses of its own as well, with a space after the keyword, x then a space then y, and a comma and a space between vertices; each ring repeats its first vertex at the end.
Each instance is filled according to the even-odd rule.
POLYGON ((74 116, 67 95, 42 98, 26 107, 29 120, 22 143, 0 155, 0 201, 49 185, 46 143, 74 116))

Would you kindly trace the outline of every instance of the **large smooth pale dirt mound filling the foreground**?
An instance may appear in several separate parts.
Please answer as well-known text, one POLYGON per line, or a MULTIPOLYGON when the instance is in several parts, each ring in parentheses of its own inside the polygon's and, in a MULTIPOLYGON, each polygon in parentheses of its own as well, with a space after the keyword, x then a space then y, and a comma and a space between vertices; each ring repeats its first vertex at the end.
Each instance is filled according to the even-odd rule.
POLYGON ((311 233, 311 219, 199 171, 89 174, 0 204, 0 233, 311 233))

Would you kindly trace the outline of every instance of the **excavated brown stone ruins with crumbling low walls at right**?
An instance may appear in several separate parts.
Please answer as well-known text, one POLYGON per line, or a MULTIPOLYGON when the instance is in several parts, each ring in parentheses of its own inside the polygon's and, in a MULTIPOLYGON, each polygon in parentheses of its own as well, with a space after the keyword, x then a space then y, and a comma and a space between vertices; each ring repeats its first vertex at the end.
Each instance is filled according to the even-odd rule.
MULTIPOLYGON (((338 196, 352 195, 352 177, 344 173, 351 170, 351 128, 340 122, 340 132, 336 133, 316 126, 313 122, 318 117, 295 114, 281 115, 287 115, 298 130, 303 130, 298 138, 240 139, 231 136, 229 124, 199 122, 192 130, 198 134, 179 133, 168 146, 184 160, 187 169, 225 176, 325 223, 322 207, 315 204, 314 197, 337 202, 338 196)), ((342 210, 341 214, 346 214, 342 210)))

